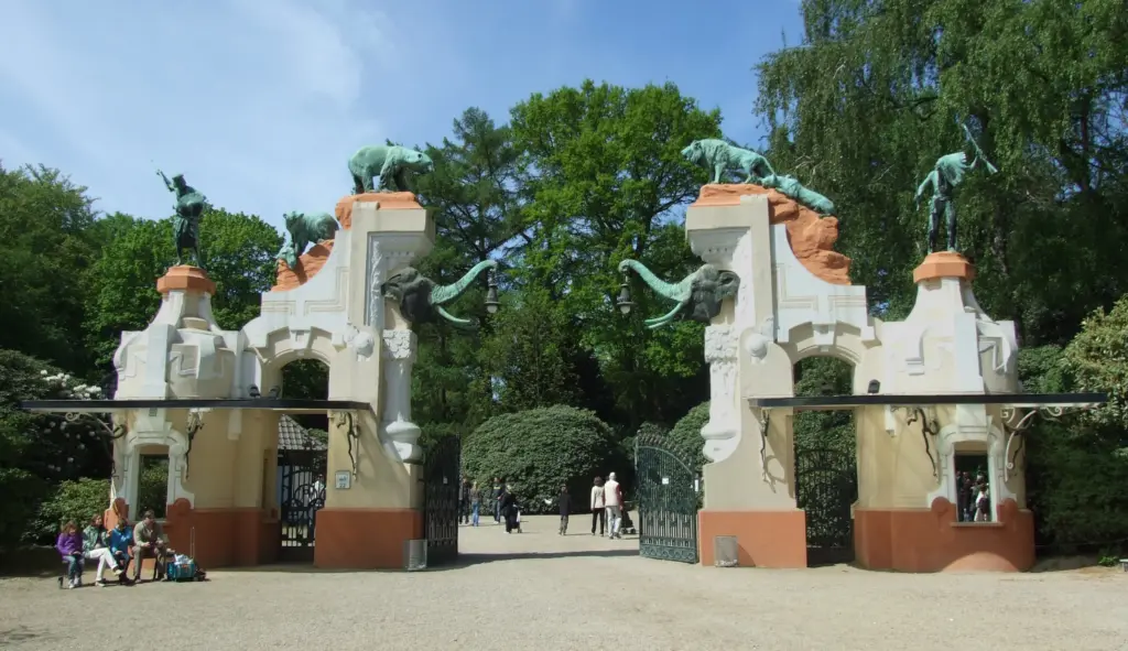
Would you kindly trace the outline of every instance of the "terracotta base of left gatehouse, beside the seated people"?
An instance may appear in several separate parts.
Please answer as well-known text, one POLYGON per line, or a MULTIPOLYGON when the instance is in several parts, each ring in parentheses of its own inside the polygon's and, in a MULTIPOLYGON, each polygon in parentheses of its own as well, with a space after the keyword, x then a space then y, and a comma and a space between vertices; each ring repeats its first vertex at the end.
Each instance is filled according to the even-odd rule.
POLYGON ((183 554, 194 542, 194 557, 204 569, 273 563, 279 546, 277 522, 262 509, 193 509, 183 499, 168 507, 165 534, 183 554))

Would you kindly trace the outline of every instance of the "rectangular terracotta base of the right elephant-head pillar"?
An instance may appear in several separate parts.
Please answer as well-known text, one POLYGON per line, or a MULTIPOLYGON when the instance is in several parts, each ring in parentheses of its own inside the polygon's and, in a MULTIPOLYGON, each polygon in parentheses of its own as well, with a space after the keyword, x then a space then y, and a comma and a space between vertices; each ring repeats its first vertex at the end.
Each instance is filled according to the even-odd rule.
POLYGON ((713 538, 737 537, 737 561, 742 568, 805 568, 807 513, 788 511, 697 512, 702 565, 713 565, 713 538))

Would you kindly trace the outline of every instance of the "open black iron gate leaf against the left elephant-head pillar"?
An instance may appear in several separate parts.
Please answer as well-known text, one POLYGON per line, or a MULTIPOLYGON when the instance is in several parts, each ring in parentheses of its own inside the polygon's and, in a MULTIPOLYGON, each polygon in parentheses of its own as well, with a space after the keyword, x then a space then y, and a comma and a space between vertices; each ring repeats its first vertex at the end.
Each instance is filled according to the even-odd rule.
POLYGON ((458 489, 462 445, 458 437, 435 443, 423 463, 423 522, 428 565, 458 557, 458 489))

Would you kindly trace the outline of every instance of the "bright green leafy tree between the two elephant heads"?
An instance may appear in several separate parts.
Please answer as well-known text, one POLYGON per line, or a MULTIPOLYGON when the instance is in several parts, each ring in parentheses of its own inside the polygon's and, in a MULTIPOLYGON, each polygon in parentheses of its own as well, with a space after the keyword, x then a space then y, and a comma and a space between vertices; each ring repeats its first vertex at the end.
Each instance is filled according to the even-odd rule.
MULTIPOLYGON (((676 222, 703 175, 680 150, 720 135, 720 112, 702 111, 672 83, 627 89, 589 80, 535 94, 511 113, 525 202, 514 284, 545 292, 559 318, 572 319, 627 431, 672 421, 703 397, 699 326, 646 332, 638 317, 619 317, 615 266, 633 257, 671 278, 693 269, 676 222)), ((641 313, 649 292, 636 293, 641 313)), ((605 390, 578 388, 590 401, 605 390)))

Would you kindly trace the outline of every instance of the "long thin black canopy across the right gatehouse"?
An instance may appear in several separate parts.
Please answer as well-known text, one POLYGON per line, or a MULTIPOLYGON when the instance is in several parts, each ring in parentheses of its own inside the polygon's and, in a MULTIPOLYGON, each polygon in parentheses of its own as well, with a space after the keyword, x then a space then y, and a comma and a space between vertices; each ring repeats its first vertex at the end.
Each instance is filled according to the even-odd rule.
POLYGON ((862 394, 849 396, 802 396, 747 398, 763 410, 791 407, 796 412, 828 412, 855 407, 924 407, 941 405, 1003 405, 1012 408, 1084 407, 1109 401, 1104 393, 1086 394, 862 394))

